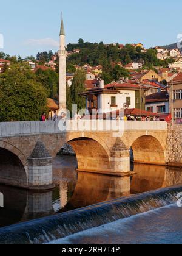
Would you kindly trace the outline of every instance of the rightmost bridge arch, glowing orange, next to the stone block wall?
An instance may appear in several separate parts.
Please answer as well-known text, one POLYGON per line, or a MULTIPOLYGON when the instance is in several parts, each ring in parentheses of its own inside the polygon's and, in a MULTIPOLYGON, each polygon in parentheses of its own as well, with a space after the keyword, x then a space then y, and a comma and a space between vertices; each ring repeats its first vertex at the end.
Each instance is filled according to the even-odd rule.
POLYGON ((133 161, 154 165, 166 165, 164 144, 154 134, 141 135, 131 144, 133 161))

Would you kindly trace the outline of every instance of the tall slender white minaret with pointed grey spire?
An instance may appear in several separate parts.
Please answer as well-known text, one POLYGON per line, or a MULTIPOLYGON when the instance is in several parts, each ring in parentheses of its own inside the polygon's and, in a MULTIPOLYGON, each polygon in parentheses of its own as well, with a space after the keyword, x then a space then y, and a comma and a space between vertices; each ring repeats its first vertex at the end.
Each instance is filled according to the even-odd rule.
POLYGON ((66 43, 63 18, 61 19, 59 48, 59 110, 66 110, 66 43))

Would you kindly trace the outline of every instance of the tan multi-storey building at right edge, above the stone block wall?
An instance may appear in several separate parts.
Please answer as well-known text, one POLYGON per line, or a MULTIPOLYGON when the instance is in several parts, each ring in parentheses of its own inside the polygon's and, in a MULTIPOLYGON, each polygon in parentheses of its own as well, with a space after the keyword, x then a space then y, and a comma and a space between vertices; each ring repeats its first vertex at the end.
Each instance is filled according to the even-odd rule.
POLYGON ((182 123, 182 73, 169 83, 170 113, 175 123, 182 123))

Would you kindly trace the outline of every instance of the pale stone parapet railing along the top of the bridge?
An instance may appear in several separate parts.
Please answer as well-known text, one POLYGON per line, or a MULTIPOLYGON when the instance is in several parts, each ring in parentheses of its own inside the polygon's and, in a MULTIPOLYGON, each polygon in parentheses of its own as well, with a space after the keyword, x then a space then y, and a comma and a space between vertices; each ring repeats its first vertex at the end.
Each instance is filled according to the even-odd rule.
POLYGON ((152 121, 26 121, 0 123, 0 138, 66 132, 124 132, 126 130, 167 130, 166 122, 152 121))

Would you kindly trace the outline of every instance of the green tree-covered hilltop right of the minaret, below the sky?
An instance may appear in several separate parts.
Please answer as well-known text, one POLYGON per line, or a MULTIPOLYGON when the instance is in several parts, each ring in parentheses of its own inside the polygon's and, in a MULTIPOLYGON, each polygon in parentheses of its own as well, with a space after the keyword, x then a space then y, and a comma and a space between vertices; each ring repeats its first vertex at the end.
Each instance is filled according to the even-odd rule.
POLYGON ((72 54, 68 57, 68 64, 83 66, 88 63, 90 66, 102 65, 106 71, 112 62, 121 62, 127 65, 130 62, 143 63, 144 68, 153 68, 154 66, 166 67, 172 63, 172 59, 161 61, 157 59, 157 51, 155 49, 147 49, 146 52, 142 48, 135 48, 131 44, 126 44, 123 49, 119 49, 119 44, 101 43, 84 43, 82 39, 78 44, 68 44, 67 51, 80 49, 79 54, 72 54))

